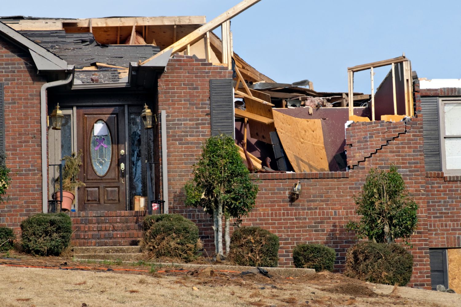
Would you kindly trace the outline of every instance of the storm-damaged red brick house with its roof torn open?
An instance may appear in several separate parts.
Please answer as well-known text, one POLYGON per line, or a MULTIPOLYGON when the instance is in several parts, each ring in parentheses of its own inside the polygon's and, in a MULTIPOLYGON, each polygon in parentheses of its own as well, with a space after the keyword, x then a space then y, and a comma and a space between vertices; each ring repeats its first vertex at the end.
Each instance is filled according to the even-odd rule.
POLYGON ((446 250, 439 258, 449 261, 443 255, 461 248, 461 183, 455 173, 445 176, 445 168, 428 168, 424 99, 434 95, 423 90, 420 98, 408 59, 348 69, 348 93, 316 92, 310 81, 280 84, 233 52, 229 16, 217 23, 204 17, 1 18, 1 146, 12 185, 9 201, 0 205, 0 225, 17 228, 25 217, 47 212, 53 164, 82 149, 86 187, 70 213, 73 245, 136 244, 146 212, 134 211, 133 198, 148 196, 165 201, 165 212, 197 223, 209 249, 210 218, 184 207, 183 186, 203 141, 226 132, 235 135, 260 187, 257 208, 243 224, 278 235, 279 266, 292 265, 296 244, 316 242, 337 251, 341 270, 355 243, 344 229, 355 218, 353 195, 371 168, 395 164, 420 208, 411 283, 430 288, 434 250, 446 250), (219 25, 222 40, 211 32, 219 25), (354 93, 355 71, 383 65, 392 69, 376 94, 354 93), (65 117, 62 129, 53 130, 47 116, 58 103, 65 117), (157 115, 152 129, 143 128, 144 105, 157 115), (95 135, 95 124, 107 132, 95 135), (295 130, 302 132, 296 138, 295 130), (95 158, 99 144, 107 146, 98 147, 106 156, 95 158), (301 195, 290 202, 297 181, 301 195))

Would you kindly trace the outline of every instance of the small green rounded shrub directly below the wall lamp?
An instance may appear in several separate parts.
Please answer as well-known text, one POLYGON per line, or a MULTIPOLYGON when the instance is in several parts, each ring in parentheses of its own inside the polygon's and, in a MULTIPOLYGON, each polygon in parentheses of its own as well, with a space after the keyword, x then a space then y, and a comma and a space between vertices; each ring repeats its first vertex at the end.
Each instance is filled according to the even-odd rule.
POLYGON ((300 244, 293 249, 295 266, 314 269, 315 272, 333 271, 335 259, 335 250, 321 244, 300 244))

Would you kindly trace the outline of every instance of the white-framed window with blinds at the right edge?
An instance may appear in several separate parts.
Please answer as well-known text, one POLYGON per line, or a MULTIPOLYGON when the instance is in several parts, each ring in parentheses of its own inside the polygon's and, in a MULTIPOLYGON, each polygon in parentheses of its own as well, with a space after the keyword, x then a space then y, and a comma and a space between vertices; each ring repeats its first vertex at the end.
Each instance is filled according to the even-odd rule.
POLYGON ((461 97, 438 100, 442 170, 461 175, 461 97))

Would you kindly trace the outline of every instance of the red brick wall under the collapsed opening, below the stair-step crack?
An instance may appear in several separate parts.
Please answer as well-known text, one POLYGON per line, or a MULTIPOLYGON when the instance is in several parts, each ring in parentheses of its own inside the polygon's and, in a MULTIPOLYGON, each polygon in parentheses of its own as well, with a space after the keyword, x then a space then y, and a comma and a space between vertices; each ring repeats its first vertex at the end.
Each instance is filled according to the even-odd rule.
MULTIPOLYGON (((259 174, 260 192, 257 208, 243 225, 261 226, 280 238, 279 266, 291 266, 292 250, 300 243, 321 243, 337 252, 336 272, 344 267, 346 250, 355 243, 354 233, 345 225, 356 218, 353 196, 360 191, 371 168, 389 168, 395 164, 399 173, 419 205, 418 230, 412 236, 414 248, 415 287, 430 286, 429 239, 425 189, 424 156, 422 151, 422 118, 414 118, 400 134, 378 153, 360 163, 349 172, 259 174), (290 203, 291 187, 301 180, 300 198, 290 203)), ((399 123, 393 123, 398 125, 399 123)), ((362 133, 367 133, 366 123, 358 123, 362 133)), ((357 129, 355 129, 357 132, 357 129)), ((386 141, 384 141, 384 144, 386 141)))

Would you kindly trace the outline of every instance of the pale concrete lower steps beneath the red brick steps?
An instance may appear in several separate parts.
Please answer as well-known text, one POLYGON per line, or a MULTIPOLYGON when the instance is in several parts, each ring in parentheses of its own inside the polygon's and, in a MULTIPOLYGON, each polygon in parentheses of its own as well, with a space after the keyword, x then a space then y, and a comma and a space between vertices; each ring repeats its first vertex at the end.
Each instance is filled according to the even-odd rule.
POLYGON ((139 246, 74 247, 74 259, 79 261, 126 261, 142 260, 144 254, 139 246))

